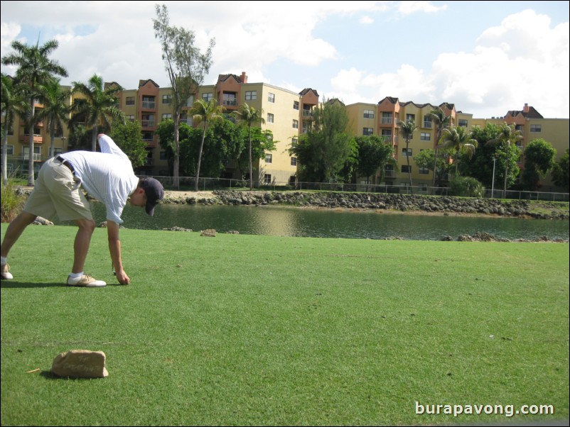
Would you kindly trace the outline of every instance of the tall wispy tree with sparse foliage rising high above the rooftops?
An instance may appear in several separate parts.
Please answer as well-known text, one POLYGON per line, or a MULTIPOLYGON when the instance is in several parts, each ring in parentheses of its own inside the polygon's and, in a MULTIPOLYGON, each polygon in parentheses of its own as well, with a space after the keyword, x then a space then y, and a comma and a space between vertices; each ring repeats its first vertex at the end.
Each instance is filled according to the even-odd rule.
POLYGON ((170 26, 168 9, 166 9, 164 4, 162 6, 157 4, 155 9, 156 19, 153 19, 154 36, 161 43, 162 59, 172 87, 175 146, 173 184, 176 188, 179 188, 180 143, 178 140, 178 123, 180 123, 183 107, 187 104, 190 96, 196 93, 200 84, 203 83, 205 75, 210 71, 215 39, 210 40, 208 49, 205 53, 202 53, 195 46, 193 31, 185 30, 182 27, 170 26))

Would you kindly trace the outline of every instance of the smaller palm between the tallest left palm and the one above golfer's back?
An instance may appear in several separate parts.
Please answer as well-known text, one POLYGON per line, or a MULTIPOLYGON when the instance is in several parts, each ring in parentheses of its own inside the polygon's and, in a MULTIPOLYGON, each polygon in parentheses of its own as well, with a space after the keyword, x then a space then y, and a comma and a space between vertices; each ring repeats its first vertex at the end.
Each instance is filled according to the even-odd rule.
POLYGON ((45 121, 50 132, 50 155, 53 157, 53 140, 55 130, 63 131, 63 123, 69 122, 71 107, 68 105, 71 92, 62 89, 60 79, 50 79, 49 82, 39 87, 43 109, 38 113, 38 118, 45 121))

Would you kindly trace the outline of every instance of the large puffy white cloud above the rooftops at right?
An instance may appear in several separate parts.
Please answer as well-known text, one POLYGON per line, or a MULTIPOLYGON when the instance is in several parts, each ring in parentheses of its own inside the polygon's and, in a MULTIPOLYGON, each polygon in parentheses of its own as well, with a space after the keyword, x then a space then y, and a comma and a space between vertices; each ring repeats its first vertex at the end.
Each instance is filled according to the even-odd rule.
POLYGON ((451 102, 476 117, 503 116, 509 109, 534 106, 544 117, 569 116, 569 24, 550 28, 550 20, 532 11, 515 13, 489 28, 472 52, 441 53, 431 71, 402 65, 396 72, 370 74, 351 68, 330 81, 345 104, 377 103, 385 96, 400 101, 451 102), (533 23, 532 37, 524 35, 533 23))

